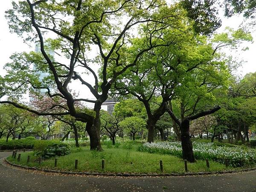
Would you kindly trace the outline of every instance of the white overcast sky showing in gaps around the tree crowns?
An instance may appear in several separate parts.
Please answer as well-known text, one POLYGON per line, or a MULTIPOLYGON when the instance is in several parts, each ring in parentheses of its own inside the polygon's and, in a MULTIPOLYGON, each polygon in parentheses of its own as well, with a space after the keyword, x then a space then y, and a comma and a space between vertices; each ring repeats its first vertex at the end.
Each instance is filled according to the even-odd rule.
MULTIPOLYGON (((0 75, 4 74, 3 65, 10 61, 9 57, 12 55, 12 53, 22 51, 29 52, 35 50, 35 47, 29 47, 28 45, 24 44, 22 38, 19 38, 16 34, 11 34, 9 32, 7 20, 5 19, 4 15, 7 9, 12 8, 11 2, 11 0, 1 0, 0 6, 0 24, 2 26, 2 29, 0 30, 0 75)), ((230 26, 236 29, 243 21, 243 17, 232 17, 229 19, 223 18, 222 20, 222 27, 218 30, 218 32, 222 31, 226 26, 230 26)), ((253 38, 256 41, 256 33, 253 33, 253 38)), ((238 76, 244 76, 246 73, 256 71, 256 43, 247 44, 247 47, 249 47, 249 50, 245 52, 241 52, 240 54, 234 53, 236 54, 237 57, 239 57, 239 60, 241 59, 247 61, 243 63, 242 67, 240 67, 239 70, 237 71, 238 76)), ((76 92, 79 91, 81 97, 87 95, 87 98, 93 98, 90 96, 88 91, 84 92, 84 90, 79 90, 79 84, 76 84, 75 87, 76 92)))

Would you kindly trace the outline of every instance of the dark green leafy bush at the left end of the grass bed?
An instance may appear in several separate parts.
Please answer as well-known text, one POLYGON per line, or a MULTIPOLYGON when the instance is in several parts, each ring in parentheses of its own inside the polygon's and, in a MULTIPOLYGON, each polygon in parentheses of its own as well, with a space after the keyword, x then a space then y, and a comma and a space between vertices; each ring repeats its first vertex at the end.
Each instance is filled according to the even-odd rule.
POLYGON ((64 156, 70 154, 70 149, 65 143, 53 143, 44 148, 44 151, 35 152, 36 156, 40 156, 43 159, 49 159, 55 156, 64 156))

